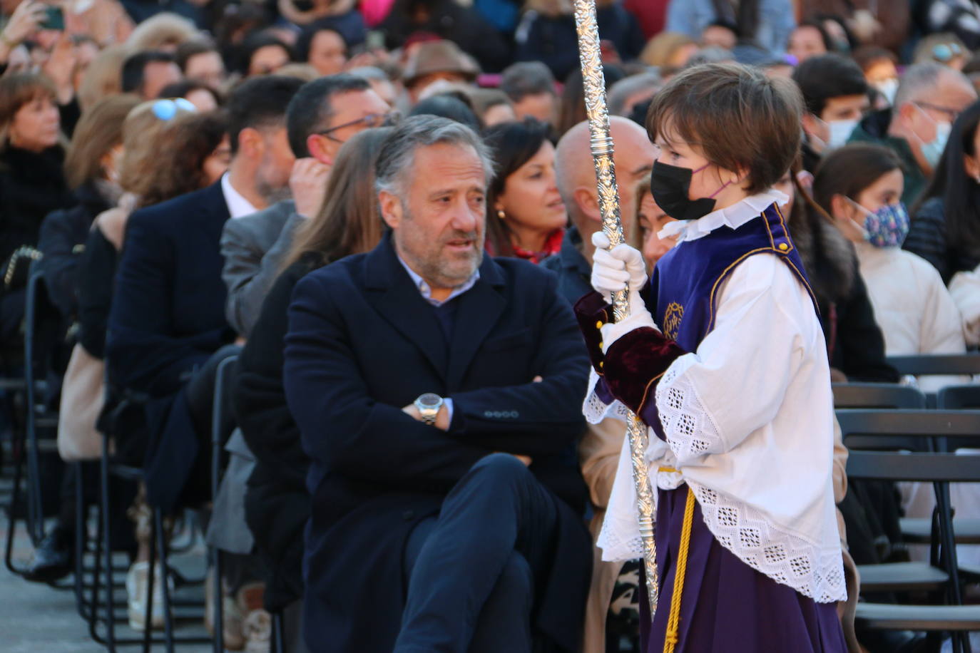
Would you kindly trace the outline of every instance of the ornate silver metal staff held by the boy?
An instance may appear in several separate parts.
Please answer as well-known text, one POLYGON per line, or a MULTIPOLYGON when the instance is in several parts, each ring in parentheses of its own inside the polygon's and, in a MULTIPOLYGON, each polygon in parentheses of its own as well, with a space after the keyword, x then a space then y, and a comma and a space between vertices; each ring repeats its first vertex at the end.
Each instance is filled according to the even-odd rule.
MULTIPOLYGON (((585 110, 589 117, 589 142, 596 164, 599 183, 599 209, 603 215, 603 233, 613 247, 623 242, 622 220, 619 218, 619 194, 613 164, 613 136, 606 108, 606 81, 603 76, 599 28, 596 24, 595 0, 574 0, 575 30, 578 32, 578 57, 582 64, 585 88, 585 110)), ((613 294, 613 316, 618 322, 629 315, 629 295, 626 291, 613 294)), ((640 515, 640 537, 643 540, 643 563, 647 574, 647 594, 651 616, 657 610, 657 546, 654 543, 654 495, 650 488, 645 452, 647 427, 635 414, 629 414, 630 457, 633 463, 633 485, 640 515)))

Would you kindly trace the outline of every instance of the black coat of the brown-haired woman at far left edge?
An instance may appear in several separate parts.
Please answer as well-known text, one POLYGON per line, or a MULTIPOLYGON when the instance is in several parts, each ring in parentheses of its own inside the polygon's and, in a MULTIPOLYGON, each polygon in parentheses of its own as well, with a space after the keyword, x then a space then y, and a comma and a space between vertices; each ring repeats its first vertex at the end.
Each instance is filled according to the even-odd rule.
POLYGON ((75 204, 59 146, 35 153, 8 145, 0 152, 0 261, 22 245, 37 245, 41 221, 75 204))

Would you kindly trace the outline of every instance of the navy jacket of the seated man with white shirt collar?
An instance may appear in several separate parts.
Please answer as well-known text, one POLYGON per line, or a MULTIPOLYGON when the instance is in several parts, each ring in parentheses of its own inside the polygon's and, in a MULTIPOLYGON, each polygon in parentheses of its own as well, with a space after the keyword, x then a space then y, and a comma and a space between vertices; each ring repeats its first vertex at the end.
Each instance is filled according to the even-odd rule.
POLYGON ((219 248, 227 219, 216 182, 137 210, 126 223, 106 367, 112 385, 150 397, 146 495, 164 510, 181 499, 199 451, 182 390, 234 339, 224 319, 219 248))

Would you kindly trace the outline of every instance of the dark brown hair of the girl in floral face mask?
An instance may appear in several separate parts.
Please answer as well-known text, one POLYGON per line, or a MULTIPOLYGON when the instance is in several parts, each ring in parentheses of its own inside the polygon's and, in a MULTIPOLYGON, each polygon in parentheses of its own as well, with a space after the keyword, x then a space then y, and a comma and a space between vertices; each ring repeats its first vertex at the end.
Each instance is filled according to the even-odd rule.
POLYGON ((813 175, 813 200, 828 214, 835 195, 858 201, 858 195, 881 178, 881 175, 902 169, 902 161, 889 148, 881 145, 852 143, 825 156, 813 175))

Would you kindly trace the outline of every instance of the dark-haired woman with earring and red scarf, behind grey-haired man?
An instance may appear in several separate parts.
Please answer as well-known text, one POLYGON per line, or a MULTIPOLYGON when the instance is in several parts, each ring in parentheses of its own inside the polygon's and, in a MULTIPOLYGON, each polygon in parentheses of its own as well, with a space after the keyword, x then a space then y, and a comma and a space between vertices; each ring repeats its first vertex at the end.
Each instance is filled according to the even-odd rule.
POLYGON ((549 127, 528 118, 484 132, 497 176, 487 191, 487 252, 539 263, 562 248, 568 213, 558 192, 549 127))

